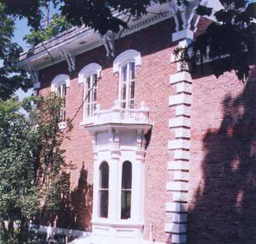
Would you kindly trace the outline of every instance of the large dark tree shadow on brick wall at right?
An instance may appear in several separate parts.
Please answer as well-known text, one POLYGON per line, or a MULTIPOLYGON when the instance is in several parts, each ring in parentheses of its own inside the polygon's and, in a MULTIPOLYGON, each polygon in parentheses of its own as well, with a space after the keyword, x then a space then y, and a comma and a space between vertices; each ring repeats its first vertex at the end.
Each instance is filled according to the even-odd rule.
POLYGON ((204 174, 189 211, 188 243, 256 243, 255 73, 241 95, 226 96, 220 128, 205 134, 204 174))

